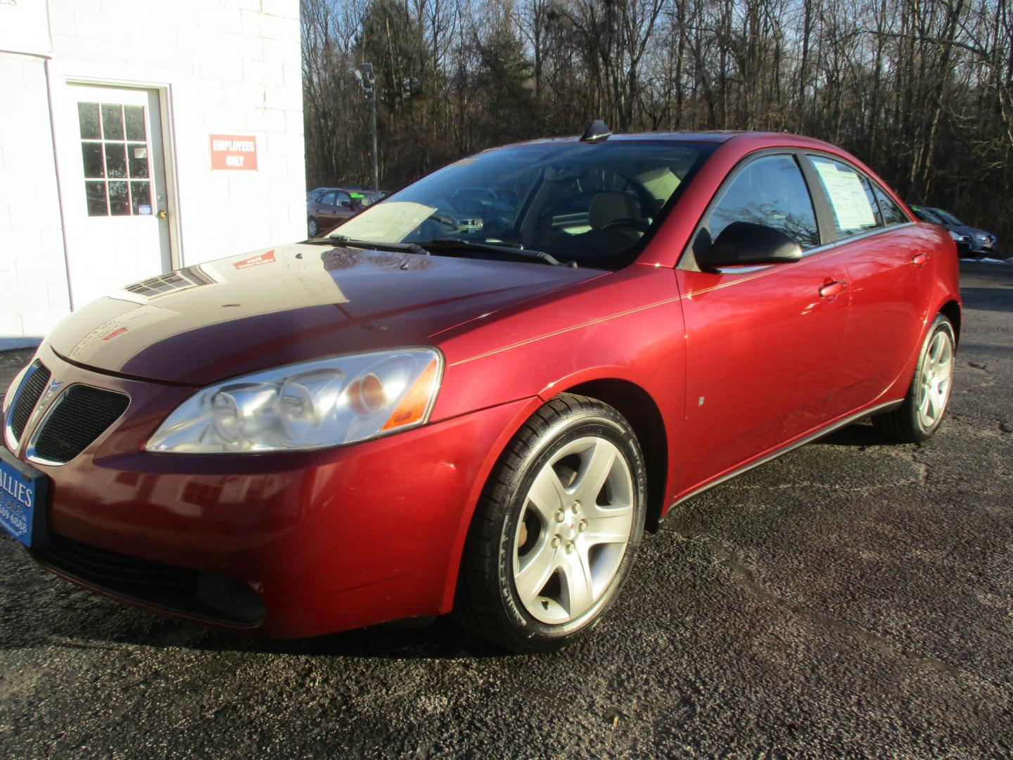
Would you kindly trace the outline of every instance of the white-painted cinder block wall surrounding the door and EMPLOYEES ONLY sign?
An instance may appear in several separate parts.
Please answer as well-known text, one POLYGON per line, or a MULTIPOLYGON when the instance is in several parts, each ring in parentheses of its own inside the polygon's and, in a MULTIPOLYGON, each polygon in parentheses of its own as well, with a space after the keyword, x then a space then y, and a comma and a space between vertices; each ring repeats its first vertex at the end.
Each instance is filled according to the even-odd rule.
POLYGON ((49 0, 49 24, 52 57, 0 52, 0 349, 71 308, 50 121, 68 82, 164 92, 176 264, 305 237, 299 0, 49 0), (212 134, 254 135, 257 170, 213 171, 212 134))

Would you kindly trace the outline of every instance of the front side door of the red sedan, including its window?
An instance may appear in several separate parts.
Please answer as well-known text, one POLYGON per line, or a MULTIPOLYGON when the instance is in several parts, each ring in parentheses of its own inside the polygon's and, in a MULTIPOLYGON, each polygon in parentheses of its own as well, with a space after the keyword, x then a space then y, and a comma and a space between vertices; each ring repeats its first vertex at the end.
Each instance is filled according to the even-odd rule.
POLYGON ((699 271, 692 250, 680 261, 685 439, 694 442, 681 455, 687 488, 817 427, 844 337, 850 296, 844 271, 823 244, 793 152, 739 164, 701 227, 716 238, 734 221, 778 229, 805 253, 789 263, 713 272, 699 271))

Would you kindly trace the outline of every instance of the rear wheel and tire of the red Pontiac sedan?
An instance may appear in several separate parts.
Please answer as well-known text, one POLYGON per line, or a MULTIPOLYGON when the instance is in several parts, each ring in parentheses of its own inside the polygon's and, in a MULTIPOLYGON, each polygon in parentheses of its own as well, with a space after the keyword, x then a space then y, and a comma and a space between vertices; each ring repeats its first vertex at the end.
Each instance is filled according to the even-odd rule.
POLYGON ((918 354, 915 377, 904 403, 872 417, 881 435, 905 443, 922 443, 939 429, 953 388, 956 337, 949 319, 938 314, 918 354))

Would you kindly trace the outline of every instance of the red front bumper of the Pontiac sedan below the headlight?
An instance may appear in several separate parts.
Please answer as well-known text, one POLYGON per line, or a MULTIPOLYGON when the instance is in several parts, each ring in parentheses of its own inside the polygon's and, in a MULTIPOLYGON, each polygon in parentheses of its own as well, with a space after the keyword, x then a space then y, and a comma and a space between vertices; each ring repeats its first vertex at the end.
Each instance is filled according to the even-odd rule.
POLYGON ((122 601, 281 637, 449 611, 490 452, 530 403, 326 451, 152 454, 148 436, 192 388, 81 369, 47 347, 41 359, 63 382, 119 390, 131 403, 69 463, 34 465, 52 481, 55 538, 36 558, 122 601), (96 577, 94 563, 82 568, 81 551, 112 581, 96 577), (130 585, 155 571, 186 576, 200 604, 130 585), (236 609, 214 609, 223 597, 236 609), (223 612, 236 615, 215 614, 223 612))

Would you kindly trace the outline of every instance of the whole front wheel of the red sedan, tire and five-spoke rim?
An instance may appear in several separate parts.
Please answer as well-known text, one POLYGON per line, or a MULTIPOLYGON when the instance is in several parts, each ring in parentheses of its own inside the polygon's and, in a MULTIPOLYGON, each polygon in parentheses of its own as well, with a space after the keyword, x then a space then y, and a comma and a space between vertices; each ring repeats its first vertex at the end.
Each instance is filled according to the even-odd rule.
POLYGON ((646 472, 629 423, 564 393, 496 463, 465 540, 454 612, 514 652, 559 649, 595 625, 643 535, 646 472))

